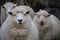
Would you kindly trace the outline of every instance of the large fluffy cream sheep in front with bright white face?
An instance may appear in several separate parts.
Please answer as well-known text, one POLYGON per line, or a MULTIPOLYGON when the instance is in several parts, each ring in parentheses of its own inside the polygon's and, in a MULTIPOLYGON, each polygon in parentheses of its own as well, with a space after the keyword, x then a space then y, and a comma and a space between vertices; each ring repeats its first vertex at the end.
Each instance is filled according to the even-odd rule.
POLYGON ((38 40, 38 29, 30 17, 28 6, 17 6, 1 26, 1 40, 38 40))

